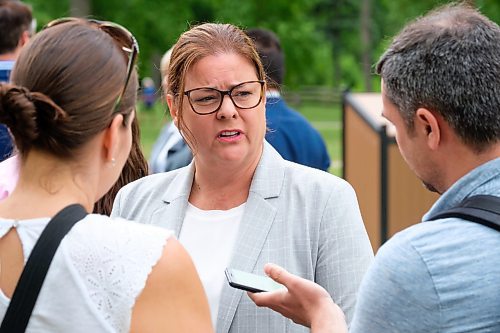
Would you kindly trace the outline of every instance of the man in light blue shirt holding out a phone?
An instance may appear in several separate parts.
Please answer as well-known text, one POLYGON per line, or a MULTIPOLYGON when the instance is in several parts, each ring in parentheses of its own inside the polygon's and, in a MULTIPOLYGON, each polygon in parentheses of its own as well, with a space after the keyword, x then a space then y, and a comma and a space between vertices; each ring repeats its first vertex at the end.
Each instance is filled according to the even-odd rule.
MULTIPOLYGON (((444 6, 404 28, 377 72, 401 154, 441 197, 379 249, 351 332, 500 332, 500 232, 443 217, 472 197, 483 206, 484 195, 500 197, 500 27, 474 8, 444 6)), ((258 305, 313 331, 345 331, 321 287, 274 265, 266 272, 288 291, 251 295, 258 305)))

